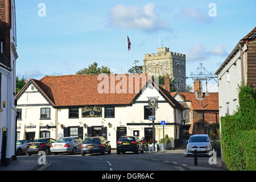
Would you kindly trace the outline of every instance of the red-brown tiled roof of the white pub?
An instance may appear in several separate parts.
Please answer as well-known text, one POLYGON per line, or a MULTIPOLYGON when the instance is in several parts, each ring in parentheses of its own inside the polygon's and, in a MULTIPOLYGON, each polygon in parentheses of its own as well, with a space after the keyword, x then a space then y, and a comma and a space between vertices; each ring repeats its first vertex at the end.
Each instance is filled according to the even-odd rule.
MULTIPOLYGON (((131 104, 134 98, 138 95, 139 91, 143 88, 146 82, 151 79, 147 74, 108 74, 105 75, 108 93, 98 92, 98 87, 101 87, 104 83, 103 78, 98 78, 98 75, 64 75, 64 76, 44 76, 40 80, 31 79, 31 81, 38 86, 40 91, 47 97, 48 101, 54 106, 85 106, 85 105, 126 105, 131 104), (135 81, 131 82, 132 76, 141 76, 145 79, 139 79, 139 86, 135 81), (121 78, 120 78, 121 77, 121 78), (115 78, 115 79, 112 79, 115 78), (119 79, 120 78, 120 79, 119 79), (122 78, 124 81, 122 82, 122 78), (126 81, 125 81, 126 79, 126 81), (126 86, 123 88, 127 90, 125 93, 118 93, 120 86, 126 86), (129 86, 129 83, 132 85, 129 86), (123 84, 123 85, 122 85, 123 84), (138 87, 138 92, 135 92, 135 88, 138 87), (129 93, 129 88, 131 90, 129 93), (117 88, 113 92, 113 88, 117 88)), ((30 81, 28 81, 29 83, 30 81)), ((28 84, 27 83, 27 84, 28 84)), ((24 86, 24 88, 26 85, 24 86)), ((23 88, 23 89, 24 89, 23 88)), ((22 89, 22 90, 23 90, 22 89)), ((122 88, 121 88, 122 89, 122 88)), ((22 90, 18 93, 19 97, 22 90)), ((159 87, 159 93, 171 102, 172 105, 180 107, 173 97, 170 96, 163 88, 159 87)))

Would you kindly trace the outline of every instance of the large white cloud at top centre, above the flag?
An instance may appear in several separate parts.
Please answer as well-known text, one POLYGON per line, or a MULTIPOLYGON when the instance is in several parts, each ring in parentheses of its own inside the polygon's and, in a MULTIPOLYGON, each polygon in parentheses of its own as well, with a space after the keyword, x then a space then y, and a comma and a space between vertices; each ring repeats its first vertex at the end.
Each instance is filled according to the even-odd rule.
POLYGON ((147 3, 143 7, 117 4, 110 9, 109 20, 110 26, 119 28, 143 31, 170 30, 169 23, 156 14, 153 3, 147 3))

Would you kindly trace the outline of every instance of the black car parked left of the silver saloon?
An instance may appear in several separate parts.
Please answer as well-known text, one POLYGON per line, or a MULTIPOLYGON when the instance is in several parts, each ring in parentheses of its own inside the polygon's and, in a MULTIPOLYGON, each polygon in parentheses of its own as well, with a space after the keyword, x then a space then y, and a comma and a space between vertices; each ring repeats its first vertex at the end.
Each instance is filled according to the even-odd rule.
POLYGON ((39 138, 33 140, 31 143, 26 144, 25 150, 27 155, 38 154, 39 151, 46 152, 46 155, 50 152, 50 147, 53 142, 56 142, 52 138, 39 138))

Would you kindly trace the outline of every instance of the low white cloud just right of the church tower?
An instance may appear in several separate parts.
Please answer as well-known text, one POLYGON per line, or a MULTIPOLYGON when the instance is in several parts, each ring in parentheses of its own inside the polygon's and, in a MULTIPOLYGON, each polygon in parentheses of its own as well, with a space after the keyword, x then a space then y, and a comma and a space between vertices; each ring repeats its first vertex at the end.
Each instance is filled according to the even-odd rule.
POLYGON ((226 54, 222 45, 217 45, 207 51, 203 44, 195 44, 189 48, 189 52, 185 53, 188 61, 203 61, 208 60, 210 56, 225 56, 226 54))

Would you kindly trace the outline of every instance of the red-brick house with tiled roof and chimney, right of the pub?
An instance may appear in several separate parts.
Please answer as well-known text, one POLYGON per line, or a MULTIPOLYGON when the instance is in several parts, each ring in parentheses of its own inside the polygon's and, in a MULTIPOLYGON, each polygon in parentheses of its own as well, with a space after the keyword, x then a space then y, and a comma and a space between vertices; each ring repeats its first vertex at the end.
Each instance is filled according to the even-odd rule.
POLYGON ((218 93, 201 96, 200 81, 194 81, 194 92, 171 92, 184 107, 183 138, 193 134, 209 134, 210 126, 219 123, 218 93), (197 96, 196 96, 197 91, 197 96))

